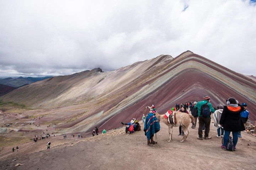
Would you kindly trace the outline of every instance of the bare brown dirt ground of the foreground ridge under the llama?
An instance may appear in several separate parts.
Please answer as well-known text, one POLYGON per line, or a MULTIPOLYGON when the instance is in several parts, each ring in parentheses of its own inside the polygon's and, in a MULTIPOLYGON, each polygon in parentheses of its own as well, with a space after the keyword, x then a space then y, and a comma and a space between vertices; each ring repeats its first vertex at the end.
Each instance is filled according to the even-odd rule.
POLYGON ((180 143, 182 137, 178 136, 178 128, 174 128, 173 140, 167 142, 167 126, 161 122, 160 126, 157 137, 161 148, 144 146, 143 131, 127 135, 124 128, 82 139, 71 135, 66 139, 51 136, 36 143, 25 143, 15 153, 12 148, 8 151, 2 148, 0 169, 256 169, 256 138, 252 135, 242 132, 237 151, 230 152, 220 148, 221 139, 216 137, 213 123, 210 128, 212 139, 197 140, 198 129, 190 128, 190 135, 183 143, 180 143), (46 149, 47 140, 52 143, 49 150, 46 149), (23 165, 15 167, 18 163, 23 165))

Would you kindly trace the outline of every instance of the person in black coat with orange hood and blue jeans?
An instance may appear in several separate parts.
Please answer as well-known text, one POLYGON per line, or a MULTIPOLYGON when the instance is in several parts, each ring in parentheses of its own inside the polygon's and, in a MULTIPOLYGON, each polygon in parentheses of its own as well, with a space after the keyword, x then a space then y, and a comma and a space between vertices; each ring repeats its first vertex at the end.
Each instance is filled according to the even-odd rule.
POLYGON ((223 150, 227 150, 226 145, 229 140, 230 132, 233 135, 233 150, 236 151, 236 143, 238 142, 238 132, 245 130, 244 123, 241 119, 241 112, 244 111, 242 107, 235 98, 229 98, 226 101, 228 106, 224 106, 222 116, 220 117, 220 125, 225 130, 223 137, 223 145, 221 146, 223 150))

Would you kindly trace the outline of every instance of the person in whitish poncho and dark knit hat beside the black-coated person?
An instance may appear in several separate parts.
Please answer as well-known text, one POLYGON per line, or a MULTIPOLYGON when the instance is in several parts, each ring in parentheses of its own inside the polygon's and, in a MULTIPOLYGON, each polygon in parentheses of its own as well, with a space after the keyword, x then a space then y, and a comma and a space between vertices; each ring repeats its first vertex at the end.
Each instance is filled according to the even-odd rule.
POLYGON ((213 119, 214 119, 214 126, 217 128, 217 132, 218 132, 217 137, 219 138, 223 137, 223 134, 224 134, 223 127, 221 127, 219 123, 222 112, 223 112, 223 104, 218 104, 217 110, 213 113, 213 119))

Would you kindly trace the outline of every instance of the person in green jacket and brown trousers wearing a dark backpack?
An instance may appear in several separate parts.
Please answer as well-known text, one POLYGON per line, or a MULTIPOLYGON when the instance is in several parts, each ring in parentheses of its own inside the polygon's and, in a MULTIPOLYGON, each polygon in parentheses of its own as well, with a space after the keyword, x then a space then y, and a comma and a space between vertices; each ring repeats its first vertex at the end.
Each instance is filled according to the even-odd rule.
POLYGON ((198 111, 198 121, 199 121, 199 128, 198 128, 198 139, 211 139, 212 137, 209 136, 210 132, 210 114, 211 112, 214 113, 214 108, 210 103, 210 97, 204 96, 202 101, 199 101, 195 106, 198 111), (203 138, 203 125, 205 125, 204 131, 204 138, 203 138))

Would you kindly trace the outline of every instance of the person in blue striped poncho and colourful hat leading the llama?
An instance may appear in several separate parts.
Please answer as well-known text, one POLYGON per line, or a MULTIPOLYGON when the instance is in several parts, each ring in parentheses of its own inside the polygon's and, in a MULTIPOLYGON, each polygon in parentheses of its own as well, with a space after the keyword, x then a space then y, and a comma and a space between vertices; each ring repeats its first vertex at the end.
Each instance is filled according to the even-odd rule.
POLYGON ((156 142, 153 140, 153 136, 160 130, 160 124, 158 119, 155 117, 155 107, 152 105, 150 107, 150 111, 145 119, 144 129, 145 136, 148 139, 148 145, 155 144, 156 142))

